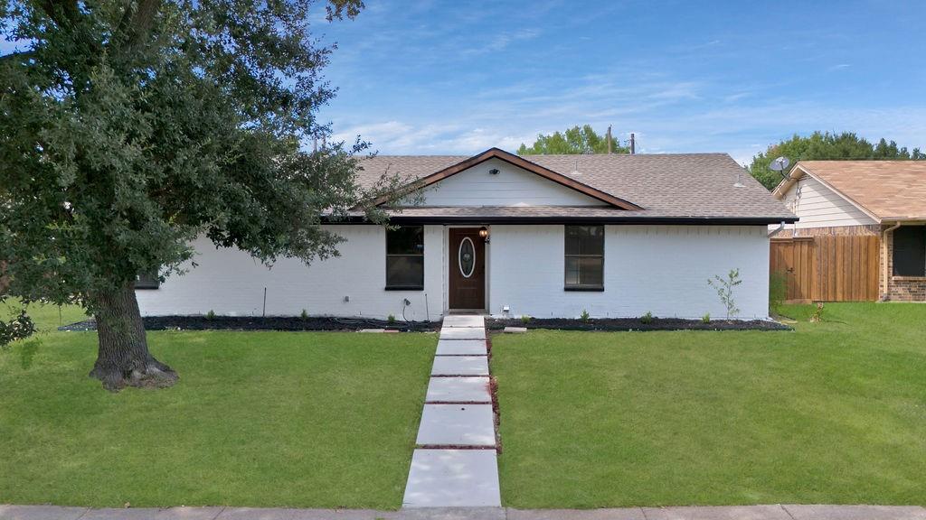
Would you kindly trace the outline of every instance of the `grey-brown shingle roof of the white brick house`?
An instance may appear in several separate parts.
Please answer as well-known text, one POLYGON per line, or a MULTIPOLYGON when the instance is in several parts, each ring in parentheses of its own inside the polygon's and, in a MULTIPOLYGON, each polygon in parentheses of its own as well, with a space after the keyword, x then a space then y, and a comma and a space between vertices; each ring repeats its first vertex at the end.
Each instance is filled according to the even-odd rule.
MULTIPOLYGON (((507 153, 503 153, 507 154, 507 153)), ((504 159, 504 156, 500 157, 504 159)), ((403 216, 449 216, 491 213, 509 217, 720 218, 793 221, 795 216, 774 200, 743 167, 726 154, 666 155, 525 155, 525 159, 600 192, 642 207, 617 208, 508 207, 406 208, 403 216), (578 160, 578 174, 576 161, 578 160), (743 187, 734 187, 740 182, 743 187), (617 213, 616 213, 617 212, 617 213)), ((418 180, 469 159, 464 155, 379 155, 361 161, 361 185, 383 173, 418 180)), ((490 215, 485 215, 490 217, 490 215)))

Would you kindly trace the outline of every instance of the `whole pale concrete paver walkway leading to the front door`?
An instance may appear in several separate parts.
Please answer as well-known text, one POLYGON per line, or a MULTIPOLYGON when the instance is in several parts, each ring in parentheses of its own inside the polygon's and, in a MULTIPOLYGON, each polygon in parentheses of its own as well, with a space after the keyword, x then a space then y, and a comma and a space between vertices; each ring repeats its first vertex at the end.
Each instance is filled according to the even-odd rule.
POLYGON ((482 316, 444 317, 405 507, 501 505, 488 360, 482 316))

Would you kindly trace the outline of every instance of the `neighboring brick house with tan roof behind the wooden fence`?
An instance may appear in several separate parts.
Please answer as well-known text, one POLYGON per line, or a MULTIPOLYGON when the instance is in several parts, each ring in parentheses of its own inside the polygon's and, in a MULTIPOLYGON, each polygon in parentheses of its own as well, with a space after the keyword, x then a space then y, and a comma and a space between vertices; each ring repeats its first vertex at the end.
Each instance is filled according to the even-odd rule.
POLYGON ((926 301, 926 162, 800 161, 773 194, 800 217, 775 239, 812 237, 832 248, 864 241, 844 237, 877 237, 870 262, 858 248, 845 261, 826 252, 828 262, 876 266, 845 278, 877 288, 882 300, 926 301))

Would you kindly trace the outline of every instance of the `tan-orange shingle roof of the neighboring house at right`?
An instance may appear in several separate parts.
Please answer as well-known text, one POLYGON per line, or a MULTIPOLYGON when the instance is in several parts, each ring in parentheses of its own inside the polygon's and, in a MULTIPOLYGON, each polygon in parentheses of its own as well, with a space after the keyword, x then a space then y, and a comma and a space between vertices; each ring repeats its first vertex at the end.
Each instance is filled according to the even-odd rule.
POLYGON ((799 161, 775 197, 805 175, 875 220, 926 219, 926 161, 799 161))

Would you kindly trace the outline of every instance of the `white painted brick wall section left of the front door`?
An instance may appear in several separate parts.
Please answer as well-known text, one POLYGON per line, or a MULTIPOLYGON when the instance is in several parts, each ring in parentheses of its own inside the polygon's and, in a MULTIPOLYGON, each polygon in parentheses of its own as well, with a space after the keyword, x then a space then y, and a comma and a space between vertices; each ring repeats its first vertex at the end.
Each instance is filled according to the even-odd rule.
POLYGON ((425 291, 384 291, 386 238, 380 226, 331 226, 347 239, 341 256, 311 266, 282 259, 272 269, 237 250, 217 250, 201 239, 195 247, 199 264, 186 275, 171 277, 153 291, 136 291, 145 316, 217 315, 260 316, 267 288, 267 316, 298 316, 303 309, 313 316, 394 315, 402 319, 402 299, 411 305, 408 319, 423 320, 425 294, 430 317, 443 307, 442 226, 426 226, 424 233, 425 291), (344 296, 350 302, 344 302, 344 296))

